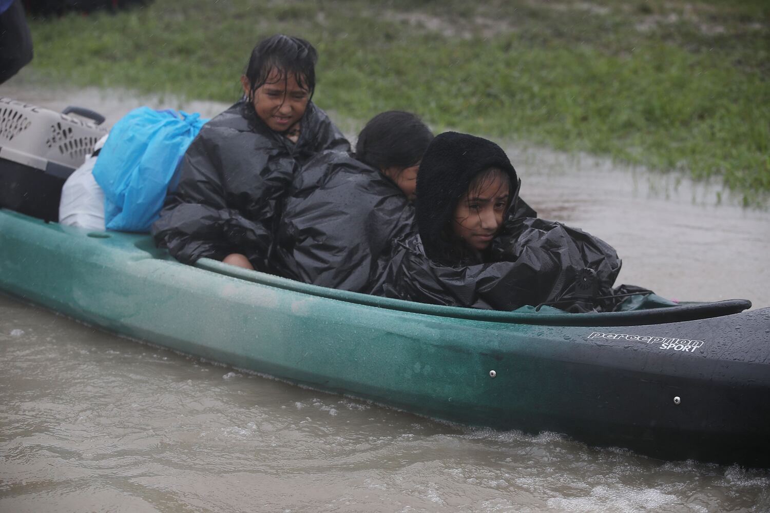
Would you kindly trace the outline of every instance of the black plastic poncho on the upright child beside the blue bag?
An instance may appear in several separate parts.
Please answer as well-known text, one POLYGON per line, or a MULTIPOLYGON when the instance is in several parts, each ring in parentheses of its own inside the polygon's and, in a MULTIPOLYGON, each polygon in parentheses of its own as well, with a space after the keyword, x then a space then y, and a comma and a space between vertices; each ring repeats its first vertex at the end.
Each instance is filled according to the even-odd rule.
POLYGON ((258 271, 269 251, 296 168, 350 143, 311 102, 295 143, 242 100, 206 123, 179 164, 179 185, 152 225, 156 244, 185 263, 242 253, 258 271))

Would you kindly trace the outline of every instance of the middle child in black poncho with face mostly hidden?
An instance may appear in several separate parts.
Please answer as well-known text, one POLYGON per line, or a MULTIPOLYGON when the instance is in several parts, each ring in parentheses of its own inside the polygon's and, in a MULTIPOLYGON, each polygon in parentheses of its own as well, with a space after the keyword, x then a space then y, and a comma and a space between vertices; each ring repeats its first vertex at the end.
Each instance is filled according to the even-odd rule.
POLYGON ((413 232, 417 168, 433 140, 409 112, 383 112, 363 128, 354 156, 323 152, 298 172, 276 236, 273 272, 365 291, 377 258, 413 232))

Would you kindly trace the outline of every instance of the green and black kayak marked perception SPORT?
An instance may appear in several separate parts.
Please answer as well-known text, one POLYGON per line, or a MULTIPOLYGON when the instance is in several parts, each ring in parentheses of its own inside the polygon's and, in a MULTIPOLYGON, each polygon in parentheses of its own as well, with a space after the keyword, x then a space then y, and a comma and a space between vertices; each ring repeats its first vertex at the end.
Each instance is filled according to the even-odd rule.
POLYGON ((431 418, 770 467, 770 308, 480 311, 182 265, 0 209, 0 291, 105 331, 431 418))

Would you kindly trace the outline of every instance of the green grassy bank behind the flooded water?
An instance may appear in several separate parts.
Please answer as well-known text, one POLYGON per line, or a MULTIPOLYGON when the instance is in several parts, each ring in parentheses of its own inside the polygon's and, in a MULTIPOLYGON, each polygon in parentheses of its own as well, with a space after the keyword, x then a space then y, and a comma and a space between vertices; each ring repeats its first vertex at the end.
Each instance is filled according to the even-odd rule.
POLYGON ((770 5, 762 1, 155 0, 31 20, 32 70, 74 85, 234 100, 265 35, 320 52, 315 101, 770 192, 770 5))

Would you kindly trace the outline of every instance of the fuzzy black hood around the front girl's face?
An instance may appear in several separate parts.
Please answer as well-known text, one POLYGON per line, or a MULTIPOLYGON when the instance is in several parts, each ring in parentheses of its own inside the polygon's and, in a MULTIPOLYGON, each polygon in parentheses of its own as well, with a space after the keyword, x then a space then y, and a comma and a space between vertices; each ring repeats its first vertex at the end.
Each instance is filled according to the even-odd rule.
POLYGON ((469 190, 480 190, 498 173, 506 175, 515 201, 518 177, 500 146, 475 135, 444 132, 427 148, 417 173, 415 217, 425 254, 447 265, 459 265, 473 252, 451 230, 454 211, 469 190))

